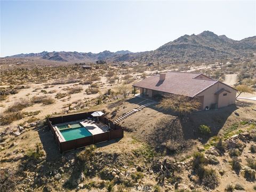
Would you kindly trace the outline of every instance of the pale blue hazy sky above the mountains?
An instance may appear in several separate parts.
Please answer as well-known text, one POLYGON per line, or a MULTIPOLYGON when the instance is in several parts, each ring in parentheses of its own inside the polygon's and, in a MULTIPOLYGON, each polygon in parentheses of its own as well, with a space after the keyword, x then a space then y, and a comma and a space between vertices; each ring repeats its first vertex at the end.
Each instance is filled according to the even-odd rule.
POLYGON ((150 51, 204 30, 256 34, 255 1, 1 1, 1 57, 42 51, 150 51))

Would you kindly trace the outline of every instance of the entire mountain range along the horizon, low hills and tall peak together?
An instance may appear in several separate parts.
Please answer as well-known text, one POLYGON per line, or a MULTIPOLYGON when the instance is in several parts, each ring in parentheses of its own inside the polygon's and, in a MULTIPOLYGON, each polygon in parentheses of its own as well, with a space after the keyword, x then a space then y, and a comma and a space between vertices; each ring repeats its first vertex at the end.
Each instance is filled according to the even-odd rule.
POLYGON ((214 61, 221 58, 250 58, 256 52, 256 36, 235 41, 225 35, 203 31, 198 35, 183 35, 166 43, 154 51, 132 53, 130 51, 103 51, 100 53, 46 52, 12 55, 13 58, 40 57, 53 61, 138 61, 180 63, 194 61, 214 61))

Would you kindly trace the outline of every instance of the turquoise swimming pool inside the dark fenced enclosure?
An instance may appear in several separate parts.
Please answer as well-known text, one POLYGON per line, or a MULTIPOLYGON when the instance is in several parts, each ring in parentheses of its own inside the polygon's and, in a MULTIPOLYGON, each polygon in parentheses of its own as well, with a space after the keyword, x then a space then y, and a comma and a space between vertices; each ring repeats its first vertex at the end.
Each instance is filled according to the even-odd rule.
POLYGON ((70 128, 60 130, 60 132, 66 141, 84 138, 92 135, 85 127, 70 128))

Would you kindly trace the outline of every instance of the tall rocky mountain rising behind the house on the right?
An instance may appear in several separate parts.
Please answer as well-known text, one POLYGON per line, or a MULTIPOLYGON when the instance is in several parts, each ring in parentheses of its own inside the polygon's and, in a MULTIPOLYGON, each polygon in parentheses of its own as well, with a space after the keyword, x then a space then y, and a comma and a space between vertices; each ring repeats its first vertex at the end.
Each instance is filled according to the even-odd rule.
MULTIPOLYGON (((198 35, 184 35, 166 43, 154 51, 140 53, 134 59, 139 62, 158 60, 161 63, 214 61, 221 58, 253 57, 256 52, 256 36, 235 41, 225 35, 203 31, 198 35)), ((127 57, 127 56, 126 56, 127 57)))

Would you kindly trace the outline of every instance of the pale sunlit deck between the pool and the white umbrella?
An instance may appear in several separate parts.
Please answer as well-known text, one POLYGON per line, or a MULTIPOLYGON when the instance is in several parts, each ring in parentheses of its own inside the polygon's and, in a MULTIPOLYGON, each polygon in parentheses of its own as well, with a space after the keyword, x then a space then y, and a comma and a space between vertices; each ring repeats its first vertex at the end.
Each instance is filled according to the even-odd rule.
POLYGON ((105 133, 108 131, 108 126, 101 122, 91 123, 85 120, 79 123, 81 123, 93 135, 99 134, 99 133, 105 133))

